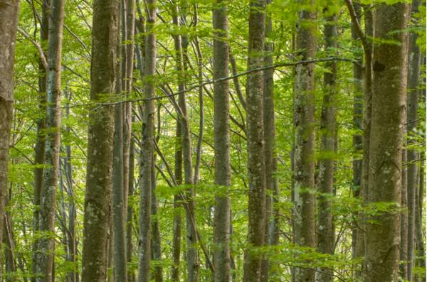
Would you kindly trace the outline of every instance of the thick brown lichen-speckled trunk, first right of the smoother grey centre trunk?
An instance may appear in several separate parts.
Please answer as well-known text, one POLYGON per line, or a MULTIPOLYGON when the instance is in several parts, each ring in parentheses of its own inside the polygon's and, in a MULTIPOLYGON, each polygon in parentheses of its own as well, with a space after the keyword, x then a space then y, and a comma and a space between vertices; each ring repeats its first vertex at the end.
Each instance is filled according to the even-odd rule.
MULTIPOLYGON (((248 70, 263 65, 265 0, 250 2, 248 70)), ((265 233, 265 160, 263 128, 263 72, 248 74, 246 120, 248 136, 248 246, 243 262, 243 281, 260 281, 265 233)))

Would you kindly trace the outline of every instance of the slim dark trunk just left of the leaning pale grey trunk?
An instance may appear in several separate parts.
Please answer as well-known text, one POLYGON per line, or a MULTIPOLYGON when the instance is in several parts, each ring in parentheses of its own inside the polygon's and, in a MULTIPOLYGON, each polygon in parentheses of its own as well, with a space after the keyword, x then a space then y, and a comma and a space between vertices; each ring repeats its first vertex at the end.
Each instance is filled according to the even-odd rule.
MULTIPOLYGON (((48 40, 48 5, 49 1, 43 1, 41 5, 41 26, 40 26, 40 40, 43 49, 46 49, 46 42, 48 40)), ((43 50, 43 54, 46 55, 46 50, 43 50)), ((38 89, 40 91, 38 95, 38 109, 43 116, 39 117, 37 122, 37 137, 36 144, 34 146, 34 164, 37 166, 43 165, 44 150, 45 150, 45 114, 46 114, 46 66, 43 65, 43 59, 40 58, 38 64, 38 89)), ((38 232, 38 216, 40 213, 40 190, 41 181, 43 179, 43 168, 34 168, 34 210, 33 210, 33 236, 36 237, 38 232)), ((33 255, 32 255, 32 269, 31 281, 36 281, 36 254, 37 254, 37 240, 33 240, 33 255)))

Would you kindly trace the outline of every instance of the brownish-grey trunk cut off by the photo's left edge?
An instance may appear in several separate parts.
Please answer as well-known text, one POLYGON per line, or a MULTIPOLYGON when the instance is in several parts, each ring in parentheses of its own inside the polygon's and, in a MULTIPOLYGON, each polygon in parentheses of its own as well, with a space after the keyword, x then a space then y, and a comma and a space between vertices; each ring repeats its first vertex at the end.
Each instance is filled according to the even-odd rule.
MULTIPOLYGON (((0 242, 4 233, 4 200, 7 191, 9 139, 14 107, 14 54, 19 1, 0 1, 0 242)), ((0 268, 0 281, 2 271, 0 268)))

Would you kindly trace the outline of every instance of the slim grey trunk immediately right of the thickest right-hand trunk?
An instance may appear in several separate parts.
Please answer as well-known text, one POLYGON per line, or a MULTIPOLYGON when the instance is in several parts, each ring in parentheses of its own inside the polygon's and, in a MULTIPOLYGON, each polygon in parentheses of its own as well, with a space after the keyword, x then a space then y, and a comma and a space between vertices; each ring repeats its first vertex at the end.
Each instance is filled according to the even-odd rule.
MULTIPOLYGON (((412 4, 412 13, 418 13, 419 1, 415 0, 412 4)), ((408 46, 408 101, 407 101, 407 120, 406 132, 409 136, 408 146, 416 141, 411 138, 417 125, 418 112, 418 83, 420 76, 421 52, 416 43, 416 33, 409 34, 408 46)), ((416 243, 416 190, 418 184, 417 178, 417 153, 413 148, 407 150, 407 192, 408 192, 408 273, 406 279, 413 281, 413 266, 415 261, 415 243, 416 243)), ((403 191, 402 191, 403 192, 403 191)))

